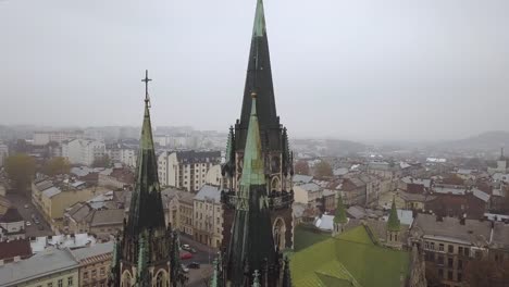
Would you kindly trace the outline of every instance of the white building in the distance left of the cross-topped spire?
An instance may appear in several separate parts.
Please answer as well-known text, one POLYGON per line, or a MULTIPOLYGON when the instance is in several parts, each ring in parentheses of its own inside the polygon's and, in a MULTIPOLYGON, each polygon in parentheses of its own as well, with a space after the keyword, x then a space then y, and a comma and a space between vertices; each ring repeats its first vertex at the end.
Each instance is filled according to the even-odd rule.
POLYGON ((101 141, 74 139, 62 144, 62 157, 72 164, 91 165, 94 160, 104 154, 105 146, 101 141))

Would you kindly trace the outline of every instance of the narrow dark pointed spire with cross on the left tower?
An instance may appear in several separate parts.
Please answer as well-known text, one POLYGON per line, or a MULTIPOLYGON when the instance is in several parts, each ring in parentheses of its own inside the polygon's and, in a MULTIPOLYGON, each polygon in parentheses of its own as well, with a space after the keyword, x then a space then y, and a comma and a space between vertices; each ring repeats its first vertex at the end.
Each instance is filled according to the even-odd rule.
POLYGON ((158 178, 158 159, 152 139, 150 123, 150 98, 148 93, 148 72, 145 78, 145 115, 139 140, 138 162, 136 166, 135 189, 131 199, 127 232, 139 234, 144 229, 164 227, 164 212, 161 201, 161 188, 158 178))

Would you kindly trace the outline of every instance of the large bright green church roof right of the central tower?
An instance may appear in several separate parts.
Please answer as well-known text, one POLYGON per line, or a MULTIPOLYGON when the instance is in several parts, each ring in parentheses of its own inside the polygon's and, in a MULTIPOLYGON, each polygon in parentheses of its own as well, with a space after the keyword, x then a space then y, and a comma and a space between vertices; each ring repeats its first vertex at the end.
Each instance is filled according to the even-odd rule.
POLYGON ((290 261, 295 287, 401 286, 410 254, 376 246, 364 226, 358 226, 294 253, 290 261))

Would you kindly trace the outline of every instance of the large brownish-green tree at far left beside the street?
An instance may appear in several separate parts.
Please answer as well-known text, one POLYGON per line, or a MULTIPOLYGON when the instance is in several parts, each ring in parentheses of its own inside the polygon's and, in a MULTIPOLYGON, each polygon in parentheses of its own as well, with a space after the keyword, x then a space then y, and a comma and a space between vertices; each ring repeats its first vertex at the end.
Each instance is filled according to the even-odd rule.
POLYGON ((26 153, 15 153, 5 159, 5 172, 17 192, 29 195, 29 186, 35 174, 35 160, 26 153))

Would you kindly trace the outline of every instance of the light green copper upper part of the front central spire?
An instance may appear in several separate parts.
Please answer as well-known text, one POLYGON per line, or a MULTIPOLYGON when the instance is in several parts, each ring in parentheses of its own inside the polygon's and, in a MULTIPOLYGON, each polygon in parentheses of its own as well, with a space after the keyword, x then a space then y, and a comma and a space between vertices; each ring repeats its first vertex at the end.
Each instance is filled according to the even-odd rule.
POLYGON ((261 154, 260 126, 257 116, 257 97, 252 96, 251 116, 249 118, 246 149, 244 151, 244 169, 240 179, 240 188, 249 188, 251 185, 264 185, 263 158, 261 154))

